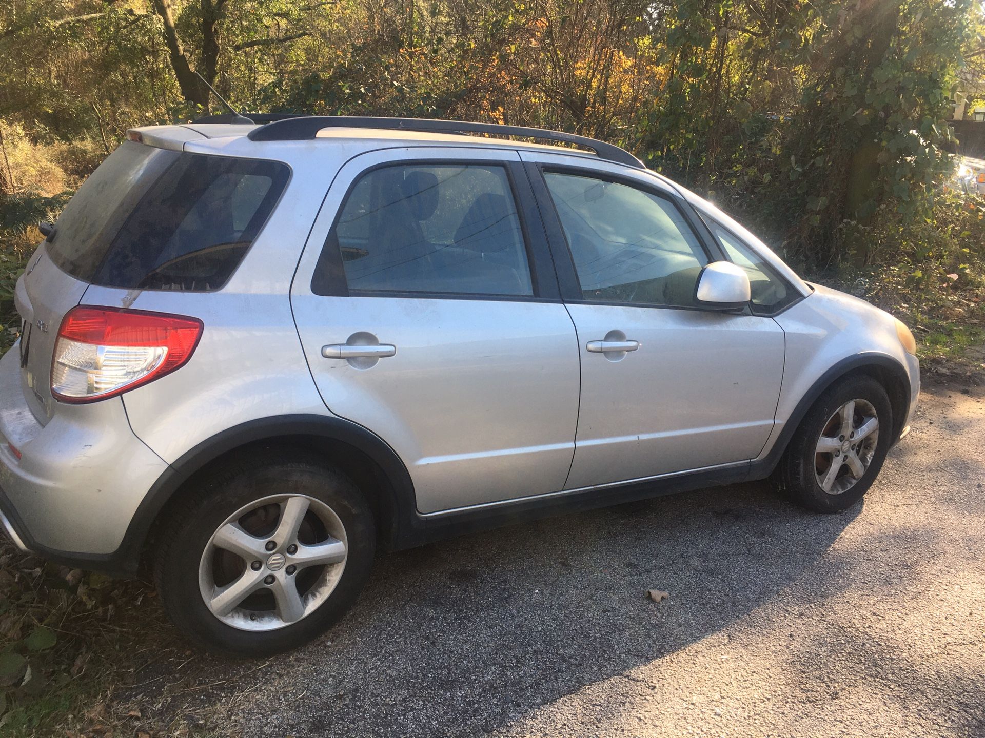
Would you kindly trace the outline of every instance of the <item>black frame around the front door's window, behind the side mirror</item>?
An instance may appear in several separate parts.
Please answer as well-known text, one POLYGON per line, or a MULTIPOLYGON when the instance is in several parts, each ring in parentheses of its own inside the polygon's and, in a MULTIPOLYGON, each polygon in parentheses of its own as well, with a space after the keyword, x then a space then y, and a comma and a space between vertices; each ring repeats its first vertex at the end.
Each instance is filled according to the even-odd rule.
MULTIPOLYGON (((712 308, 701 305, 664 305, 655 302, 626 302, 623 300, 587 300, 584 298, 581 282, 574 266, 574 258, 564 235, 564 229, 560 222, 560 215, 555 206, 551 191, 544 179, 545 173, 571 174, 574 176, 590 177, 603 182, 614 182, 626 187, 632 187, 642 192, 662 198, 668 201, 685 219, 691 229, 694 238, 697 239, 701 250, 708 259, 708 264, 716 261, 728 261, 726 254, 714 237, 707 224, 701 219, 700 215, 690 206, 687 200, 672 190, 665 190, 662 187, 648 184, 632 176, 626 176, 608 170, 593 169, 587 166, 575 164, 559 164, 546 161, 526 161, 524 169, 531 180, 534 196, 537 200, 538 208, 544 221, 544 229, 548 233, 548 241, 551 252, 554 255, 555 267, 558 271, 558 283, 561 291, 561 298, 565 303, 572 305, 605 305, 614 307, 640 307, 655 308, 660 310, 692 310, 702 313, 709 311, 720 312, 712 308)), ((738 311, 732 311, 739 315, 753 315, 752 307, 747 305, 738 311)))

